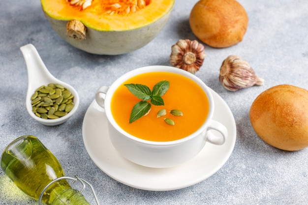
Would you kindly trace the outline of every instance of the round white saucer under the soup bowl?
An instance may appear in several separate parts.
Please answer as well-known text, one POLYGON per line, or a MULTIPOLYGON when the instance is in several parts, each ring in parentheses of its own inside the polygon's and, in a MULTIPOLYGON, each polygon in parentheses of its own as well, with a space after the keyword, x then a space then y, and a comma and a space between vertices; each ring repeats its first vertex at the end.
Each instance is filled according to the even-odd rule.
POLYGON ((207 143, 190 161, 172 168, 149 168, 123 158, 109 140, 104 109, 95 100, 89 106, 82 127, 86 149, 93 162, 108 176, 131 187, 168 191, 185 188, 215 174, 228 160, 236 141, 236 124, 231 110, 213 90, 213 119, 223 123, 229 132, 221 146, 207 143))

